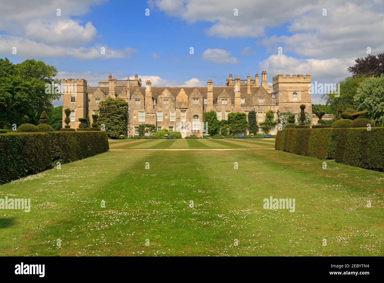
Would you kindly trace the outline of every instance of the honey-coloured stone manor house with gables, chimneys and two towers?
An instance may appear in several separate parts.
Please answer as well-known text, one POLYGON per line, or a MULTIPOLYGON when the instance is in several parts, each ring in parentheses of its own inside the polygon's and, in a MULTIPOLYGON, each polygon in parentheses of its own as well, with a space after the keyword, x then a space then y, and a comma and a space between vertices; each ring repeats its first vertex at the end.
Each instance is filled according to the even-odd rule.
MULTIPOLYGON (((290 111, 297 116, 300 105, 305 104, 305 111, 312 117, 311 94, 308 92, 310 74, 279 74, 273 77, 272 86, 268 86, 265 71, 261 84, 258 74, 254 79, 249 74, 247 79, 233 78, 230 74, 224 86, 213 86, 209 80, 206 87, 152 87, 151 81, 143 86, 137 75, 133 80, 117 80, 109 75, 108 80, 99 81, 97 87, 90 87, 84 79, 63 79, 63 86, 68 84, 74 85, 75 89, 64 87, 63 90, 63 127, 64 109, 72 110, 70 125, 78 128, 79 118, 86 118, 87 110, 92 123, 92 114, 98 113, 101 100, 108 96, 119 97, 129 104, 128 136, 138 135, 139 125, 143 123, 156 125, 157 130, 178 130, 182 137, 201 136, 203 113, 210 110, 215 110, 218 120, 226 120, 230 112, 255 110, 260 123, 268 110, 275 112, 277 120, 278 110, 290 111)), ((259 131, 262 133, 261 129, 259 131)), ((270 133, 273 135, 276 131, 277 125, 270 133)))

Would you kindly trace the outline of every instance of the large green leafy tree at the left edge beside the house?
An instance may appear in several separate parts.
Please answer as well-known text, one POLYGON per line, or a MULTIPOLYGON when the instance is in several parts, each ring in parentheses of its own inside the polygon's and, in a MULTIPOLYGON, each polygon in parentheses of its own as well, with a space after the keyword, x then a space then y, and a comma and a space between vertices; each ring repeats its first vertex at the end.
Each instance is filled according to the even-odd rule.
POLYGON ((59 83, 54 79, 55 67, 34 59, 13 64, 7 58, 0 59, 0 120, 10 127, 13 123, 37 124, 39 114, 52 108, 52 100, 60 97, 59 91, 46 93, 46 84, 59 83))

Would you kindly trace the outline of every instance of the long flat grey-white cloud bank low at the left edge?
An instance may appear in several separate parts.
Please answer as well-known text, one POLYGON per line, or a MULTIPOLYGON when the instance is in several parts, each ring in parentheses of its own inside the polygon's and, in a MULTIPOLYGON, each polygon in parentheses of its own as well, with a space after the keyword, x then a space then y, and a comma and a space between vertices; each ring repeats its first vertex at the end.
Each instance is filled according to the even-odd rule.
POLYGON ((29 39, 16 36, 0 35, 0 53, 20 56, 22 58, 49 58, 49 57, 73 57, 76 59, 109 59, 109 58, 130 58, 137 51, 132 48, 111 49, 108 46, 93 47, 64 47, 37 43, 29 39), (17 54, 12 54, 12 48, 16 47, 17 54), (105 54, 101 54, 101 48, 105 47, 105 54))

